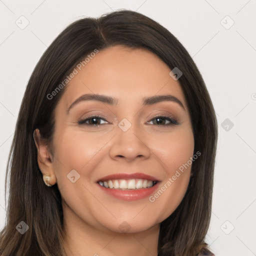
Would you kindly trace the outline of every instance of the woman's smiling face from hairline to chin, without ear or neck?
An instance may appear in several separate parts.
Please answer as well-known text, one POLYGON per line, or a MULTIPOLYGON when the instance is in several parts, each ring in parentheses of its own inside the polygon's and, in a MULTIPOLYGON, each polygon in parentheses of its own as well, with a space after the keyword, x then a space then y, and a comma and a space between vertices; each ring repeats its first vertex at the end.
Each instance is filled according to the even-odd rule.
POLYGON ((175 210, 190 178, 194 139, 178 80, 153 53, 124 46, 78 71, 55 111, 52 169, 65 221, 149 229, 175 210))

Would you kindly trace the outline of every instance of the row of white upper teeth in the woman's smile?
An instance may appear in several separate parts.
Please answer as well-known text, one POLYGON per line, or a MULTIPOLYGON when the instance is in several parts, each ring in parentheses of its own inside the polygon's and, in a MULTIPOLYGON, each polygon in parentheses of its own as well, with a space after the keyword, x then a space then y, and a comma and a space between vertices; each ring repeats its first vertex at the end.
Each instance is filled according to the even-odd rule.
POLYGON ((151 187, 155 182, 147 179, 109 179, 107 181, 99 181, 99 185, 106 188, 114 189, 139 189, 151 187))

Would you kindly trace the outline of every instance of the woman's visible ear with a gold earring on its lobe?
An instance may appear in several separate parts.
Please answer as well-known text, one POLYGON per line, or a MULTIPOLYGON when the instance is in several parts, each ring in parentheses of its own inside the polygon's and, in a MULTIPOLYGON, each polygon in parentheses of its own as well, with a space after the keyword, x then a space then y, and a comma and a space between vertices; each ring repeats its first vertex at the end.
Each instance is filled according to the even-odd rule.
POLYGON ((53 156, 50 153, 49 146, 40 137, 39 129, 34 130, 33 138, 37 148, 37 163, 43 175, 44 183, 47 186, 54 185, 56 183, 56 176, 52 164, 53 156))

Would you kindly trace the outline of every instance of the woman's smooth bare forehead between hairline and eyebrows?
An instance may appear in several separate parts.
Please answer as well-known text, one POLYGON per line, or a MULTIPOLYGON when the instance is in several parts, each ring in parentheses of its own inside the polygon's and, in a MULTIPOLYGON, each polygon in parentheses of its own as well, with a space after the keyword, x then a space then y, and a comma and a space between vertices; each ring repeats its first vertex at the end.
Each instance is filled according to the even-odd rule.
MULTIPOLYGON (((152 52, 125 46, 112 46, 86 59, 69 81, 62 100, 70 104, 85 93, 100 93, 118 102, 140 102, 142 97, 172 94, 186 107, 180 84, 169 67, 152 52)), ((142 102, 142 101, 141 101, 142 102)))

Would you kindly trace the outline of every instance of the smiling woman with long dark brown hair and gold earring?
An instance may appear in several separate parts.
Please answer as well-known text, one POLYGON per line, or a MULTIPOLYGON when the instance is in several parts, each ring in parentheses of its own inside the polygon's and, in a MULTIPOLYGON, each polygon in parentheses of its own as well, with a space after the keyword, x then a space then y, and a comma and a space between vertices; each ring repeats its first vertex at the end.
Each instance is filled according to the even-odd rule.
POLYGON ((1 255, 214 255, 216 142, 203 79, 167 29, 130 10, 73 22, 21 103, 1 255))

